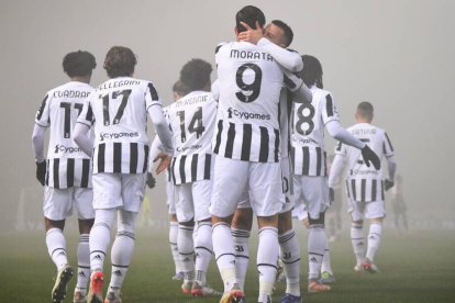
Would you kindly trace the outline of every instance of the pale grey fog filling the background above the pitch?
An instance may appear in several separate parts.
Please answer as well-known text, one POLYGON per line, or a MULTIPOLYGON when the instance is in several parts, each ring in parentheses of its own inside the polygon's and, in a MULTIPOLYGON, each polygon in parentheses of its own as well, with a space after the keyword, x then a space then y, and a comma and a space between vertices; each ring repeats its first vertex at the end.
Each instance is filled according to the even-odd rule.
MULTIPOLYGON (((411 227, 455 228, 455 1, 2 0, 0 229, 23 229, 27 217, 42 221, 31 134, 45 92, 68 80, 65 54, 91 52, 97 86, 107 79, 107 50, 129 46, 138 57, 134 76, 152 80, 169 104, 181 66, 195 57, 214 64, 214 47, 234 38, 235 12, 246 4, 259 7, 267 22, 288 23, 291 48, 321 60, 344 126, 355 123, 357 103, 375 105, 374 124, 396 150, 411 227)), ((328 142, 333 153, 334 141, 328 142)), ((166 223, 158 179, 147 195, 152 220, 166 223)))

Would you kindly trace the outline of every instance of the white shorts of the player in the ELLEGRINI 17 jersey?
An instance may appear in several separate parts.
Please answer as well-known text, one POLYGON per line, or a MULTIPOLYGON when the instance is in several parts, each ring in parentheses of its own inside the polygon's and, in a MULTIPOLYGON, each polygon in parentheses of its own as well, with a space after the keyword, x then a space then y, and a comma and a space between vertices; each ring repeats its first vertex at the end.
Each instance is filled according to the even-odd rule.
POLYGON ((93 209, 122 207, 138 213, 144 200, 146 173, 95 173, 93 209))

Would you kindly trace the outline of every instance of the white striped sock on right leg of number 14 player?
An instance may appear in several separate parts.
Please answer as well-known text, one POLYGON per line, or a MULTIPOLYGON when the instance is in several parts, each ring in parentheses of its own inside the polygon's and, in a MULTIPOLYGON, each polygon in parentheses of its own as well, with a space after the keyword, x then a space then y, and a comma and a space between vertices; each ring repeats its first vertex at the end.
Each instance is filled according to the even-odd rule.
POLYGON ((200 222, 197 228, 196 237, 196 276, 195 280, 201 285, 207 284, 206 276, 212 259, 212 224, 210 222, 200 222))

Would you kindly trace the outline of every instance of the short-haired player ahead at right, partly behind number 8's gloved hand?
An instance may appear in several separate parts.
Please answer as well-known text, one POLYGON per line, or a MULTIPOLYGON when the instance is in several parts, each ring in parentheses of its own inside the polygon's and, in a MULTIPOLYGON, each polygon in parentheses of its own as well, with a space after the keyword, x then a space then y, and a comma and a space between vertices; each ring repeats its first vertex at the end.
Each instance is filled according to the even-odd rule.
POLYGON ((382 169, 375 169, 365 161, 359 150, 339 143, 335 148, 335 159, 329 177, 332 187, 341 173, 344 161, 347 161, 346 188, 348 212, 352 217, 351 240, 357 263, 355 271, 367 270, 377 272, 374 263, 376 252, 382 236, 382 220, 386 216, 384 207, 385 191, 393 187, 396 161, 393 147, 387 133, 371 124, 374 109, 369 102, 360 102, 355 112, 357 124, 351 126, 348 132, 387 160, 388 178, 382 181, 382 169), (363 234, 364 218, 369 221, 368 246, 365 255, 365 240, 363 234))

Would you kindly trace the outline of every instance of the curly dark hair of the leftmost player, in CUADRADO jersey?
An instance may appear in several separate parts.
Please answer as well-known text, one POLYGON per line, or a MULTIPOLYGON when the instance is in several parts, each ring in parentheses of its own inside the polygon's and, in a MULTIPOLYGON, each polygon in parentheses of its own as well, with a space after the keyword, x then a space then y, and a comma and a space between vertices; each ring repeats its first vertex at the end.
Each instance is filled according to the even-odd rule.
POLYGON ((68 77, 84 77, 91 75, 91 71, 97 67, 97 61, 89 52, 77 50, 66 54, 62 66, 68 77))

